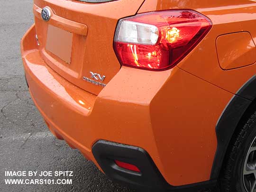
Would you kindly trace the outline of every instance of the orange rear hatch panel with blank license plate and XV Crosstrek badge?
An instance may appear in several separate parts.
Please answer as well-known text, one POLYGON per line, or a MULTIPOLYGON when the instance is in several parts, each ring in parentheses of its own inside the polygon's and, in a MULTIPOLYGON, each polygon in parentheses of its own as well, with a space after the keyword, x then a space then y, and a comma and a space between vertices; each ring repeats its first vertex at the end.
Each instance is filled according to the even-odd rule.
POLYGON ((76 0, 34 0, 42 57, 49 67, 66 80, 97 95, 120 69, 113 50, 117 22, 120 18, 135 15, 143 1, 86 3, 76 0), (49 21, 44 21, 40 15, 45 7, 52 11, 49 21), (92 73, 99 75, 94 75, 95 78, 92 73), (85 81, 85 78, 99 83, 85 81))

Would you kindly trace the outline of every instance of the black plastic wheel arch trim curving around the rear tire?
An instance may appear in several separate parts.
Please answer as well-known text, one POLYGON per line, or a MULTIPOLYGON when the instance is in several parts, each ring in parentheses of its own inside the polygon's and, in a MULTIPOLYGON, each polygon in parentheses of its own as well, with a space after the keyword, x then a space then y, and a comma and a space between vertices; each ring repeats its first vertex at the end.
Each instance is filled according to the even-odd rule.
POLYGON ((241 118, 256 99, 256 75, 253 75, 231 98, 216 125, 217 150, 210 179, 218 179, 229 142, 241 118))

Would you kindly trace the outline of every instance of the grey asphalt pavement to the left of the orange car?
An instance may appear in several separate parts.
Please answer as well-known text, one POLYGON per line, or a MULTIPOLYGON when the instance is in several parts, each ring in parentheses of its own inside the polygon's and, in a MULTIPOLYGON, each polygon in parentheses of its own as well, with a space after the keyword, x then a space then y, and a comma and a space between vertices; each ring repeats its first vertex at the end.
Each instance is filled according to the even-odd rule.
MULTIPOLYGON (((20 39, 33 24, 32 0, 0 0, 0 192, 131 192, 78 150, 55 139, 24 78, 20 39), (5 184, 5 171, 73 171, 73 184, 5 184)), ((21 177, 13 177, 21 178, 21 177)))

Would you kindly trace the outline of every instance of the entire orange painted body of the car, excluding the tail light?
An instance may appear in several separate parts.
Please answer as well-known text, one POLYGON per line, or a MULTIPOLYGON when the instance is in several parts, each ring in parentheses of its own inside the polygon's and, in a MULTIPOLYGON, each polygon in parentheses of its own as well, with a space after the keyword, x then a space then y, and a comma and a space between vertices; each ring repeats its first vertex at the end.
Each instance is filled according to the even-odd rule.
POLYGON ((58 139, 100 169, 92 146, 106 140, 146 150, 172 186, 218 179, 216 125, 256 71, 255 1, 34 0, 33 10, 22 59, 31 97, 58 139), (169 9, 203 14, 210 32, 171 69, 120 67, 112 49, 119 19, 169 9), (106 86, 84 81, 90 71, 106 86))

